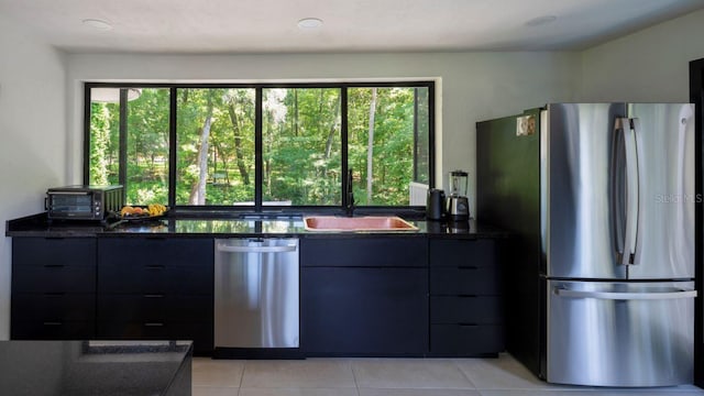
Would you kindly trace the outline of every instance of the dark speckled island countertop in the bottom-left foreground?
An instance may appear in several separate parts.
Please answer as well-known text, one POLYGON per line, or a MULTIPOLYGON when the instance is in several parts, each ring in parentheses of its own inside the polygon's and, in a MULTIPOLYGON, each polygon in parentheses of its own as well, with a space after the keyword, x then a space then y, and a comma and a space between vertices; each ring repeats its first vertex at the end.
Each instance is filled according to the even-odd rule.
POLYGON ((0 367, 3 395, 189 395, 191 342, 0 341, 0 367))

